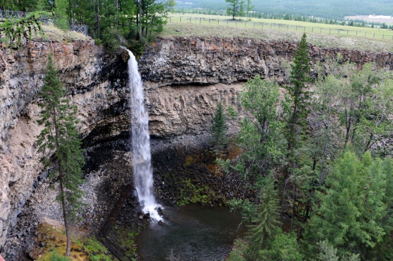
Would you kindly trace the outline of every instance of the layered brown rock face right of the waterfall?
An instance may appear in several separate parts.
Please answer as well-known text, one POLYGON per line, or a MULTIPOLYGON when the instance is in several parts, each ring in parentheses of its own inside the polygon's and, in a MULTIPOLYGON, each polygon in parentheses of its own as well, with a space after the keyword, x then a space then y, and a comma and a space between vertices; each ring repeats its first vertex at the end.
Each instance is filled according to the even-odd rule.
MULTIPOLYGON (((140 59, 147 89, 150 131, 157 136, 199 134, 209 129, 218 101, 234 105, 242 82, 261 75, 280 84, 288 81, 297 43, 180 37, 162 38, 140 59)), ((340 53, 359 66, 374 62, 393 70, 393 54, 309 45, 312 63, 340 53)))

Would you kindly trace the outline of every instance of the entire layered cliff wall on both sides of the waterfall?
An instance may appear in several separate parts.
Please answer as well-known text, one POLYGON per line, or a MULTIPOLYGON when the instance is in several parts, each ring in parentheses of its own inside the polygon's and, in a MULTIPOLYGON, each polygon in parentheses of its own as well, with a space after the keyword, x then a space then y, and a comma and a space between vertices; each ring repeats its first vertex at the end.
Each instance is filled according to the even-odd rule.
MULTIPOLYGON (((252 39, 162 38, 140 58, 150 134, 156 138, 206 133, 218 101, 235 105, 251 76, 285 83, 296 43, 252 39)), ((310 46, 313 62, 341 53, 344 60, 375 62, 393 70, 392 53, 310 46)), ((0 50, 0 246, 40 179, 41 127, 36 93, 52 54, 78 105, 85 147, 129 136, 127 65, 93 41, 28 43, 0 50)))

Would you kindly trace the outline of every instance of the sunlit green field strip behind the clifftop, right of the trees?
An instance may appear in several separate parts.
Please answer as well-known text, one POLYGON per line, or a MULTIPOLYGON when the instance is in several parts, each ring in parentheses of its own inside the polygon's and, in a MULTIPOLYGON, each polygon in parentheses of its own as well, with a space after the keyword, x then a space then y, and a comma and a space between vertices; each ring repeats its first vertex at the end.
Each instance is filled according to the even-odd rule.
POLYGON ((313 34, 339 35, 344 37, 360 37, 393 41, 393 30, 355 27, 336 24, 315 24, 301 21, 272 20, 253 18, 250 22, 230 21, 229 16, 198 15, 198 14, 169 14, 168 23, 213 24, 231 27, 246 27, 271 30, 300 31, 313 34))

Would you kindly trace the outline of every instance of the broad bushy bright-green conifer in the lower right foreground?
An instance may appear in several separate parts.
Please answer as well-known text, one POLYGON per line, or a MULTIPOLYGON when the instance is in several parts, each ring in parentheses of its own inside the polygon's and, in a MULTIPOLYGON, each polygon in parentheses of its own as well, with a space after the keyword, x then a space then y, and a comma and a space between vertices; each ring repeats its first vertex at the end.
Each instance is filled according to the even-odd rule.
POLYGON ((367 152, 361 160, 344 152, 319 193, 320 207, 310 220, 318 239, 328 239, 340 251, 364 254, 387 233, 381 221, 386 216, 386 176, 382 161, 367 152))

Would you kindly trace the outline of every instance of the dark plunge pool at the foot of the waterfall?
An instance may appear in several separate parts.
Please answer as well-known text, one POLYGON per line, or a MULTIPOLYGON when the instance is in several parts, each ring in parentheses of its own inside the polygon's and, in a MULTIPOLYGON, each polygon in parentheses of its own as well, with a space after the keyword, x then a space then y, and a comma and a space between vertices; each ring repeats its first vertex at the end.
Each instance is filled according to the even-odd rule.
POLYGON ((229 208, 207 208, 187 205, 166 207, 165 224, 150 224, 137 237, 138 254, 144 261, 165 261, 172 250, 182 261, 224 260, 237 231, 240 214, 229 208))

